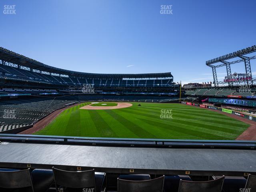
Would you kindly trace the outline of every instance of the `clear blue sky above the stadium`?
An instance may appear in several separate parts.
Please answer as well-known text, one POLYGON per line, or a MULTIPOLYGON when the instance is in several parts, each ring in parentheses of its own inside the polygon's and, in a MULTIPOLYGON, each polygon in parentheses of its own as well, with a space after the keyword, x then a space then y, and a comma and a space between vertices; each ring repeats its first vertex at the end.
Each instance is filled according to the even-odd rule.
MULTIPOLYGON (((1 0, 2 11, 4 5, 15 5, 16 14, 0 14, 0 46, 68 70, 172 72, 175 82, 207 82, 206 60, 256 44, 255 0, 1 0), (160 14, 161 5, 172 5, 173 14, 160 14)), ((222 80, 225 68, 217 73, 222 80)))

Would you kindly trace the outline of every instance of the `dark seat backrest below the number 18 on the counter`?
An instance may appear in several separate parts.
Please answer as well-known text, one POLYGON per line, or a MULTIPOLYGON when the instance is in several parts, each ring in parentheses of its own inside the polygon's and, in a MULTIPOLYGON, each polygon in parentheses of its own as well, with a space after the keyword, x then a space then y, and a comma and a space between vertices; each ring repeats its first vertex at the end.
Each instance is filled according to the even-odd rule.
POLYGON ((164 176, 144 181, 117 179, 118 192, 162 192, 163 188, 164 176))

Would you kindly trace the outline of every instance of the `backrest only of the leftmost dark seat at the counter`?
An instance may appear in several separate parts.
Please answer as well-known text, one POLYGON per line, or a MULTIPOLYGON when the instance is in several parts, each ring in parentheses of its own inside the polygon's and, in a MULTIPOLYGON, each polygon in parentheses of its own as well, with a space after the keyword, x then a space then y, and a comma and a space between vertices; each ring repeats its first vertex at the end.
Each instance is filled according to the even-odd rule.
POLYGON ((34 192, 30 169, 0 171, 0 188, 17 189, 31 187, 34 192))

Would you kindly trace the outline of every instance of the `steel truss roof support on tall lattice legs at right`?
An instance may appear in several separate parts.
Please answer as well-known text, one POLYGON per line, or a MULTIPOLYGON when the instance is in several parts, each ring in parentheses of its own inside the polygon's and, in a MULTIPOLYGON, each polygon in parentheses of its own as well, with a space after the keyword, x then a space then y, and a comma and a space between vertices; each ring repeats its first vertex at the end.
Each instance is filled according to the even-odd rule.
POLYGON ((254 52, 256 52, 256 45, 206 61, 206 65, 212 68, 212 74, 213 74, 213 78, 214 78, 214 86, 218 87, 218 84, 225 84, 225 83, 228 83, 229 86, 232 85, 232 82, 230 82, 230 81, 218 82, 216 68, 226 66, 227 77, 228 77, 228 79, 230 79, 232 77, 230 65, 240 63, 240 62, 244 62, 246 76, 250 77, 250 80, 247 80, 247 84, 252 85, 253 82, 256 81, 256 78, 252 78, 250 60, 256 59, 256 56, 245 56, 245 55, 254 53, 254 52), (233 58, 240 58, 240 59, 234 60, 234 61, 227 61, 227 60, 233 59, 233 58))

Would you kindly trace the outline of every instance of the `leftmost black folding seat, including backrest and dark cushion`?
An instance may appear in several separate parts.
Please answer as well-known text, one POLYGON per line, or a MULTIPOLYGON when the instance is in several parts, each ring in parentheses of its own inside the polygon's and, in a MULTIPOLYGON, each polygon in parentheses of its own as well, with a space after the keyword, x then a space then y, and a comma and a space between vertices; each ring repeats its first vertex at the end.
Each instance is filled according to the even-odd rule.
POLYGON ((46 192, 52 184, 52 171, 0 169, 1 192, 46 192))

